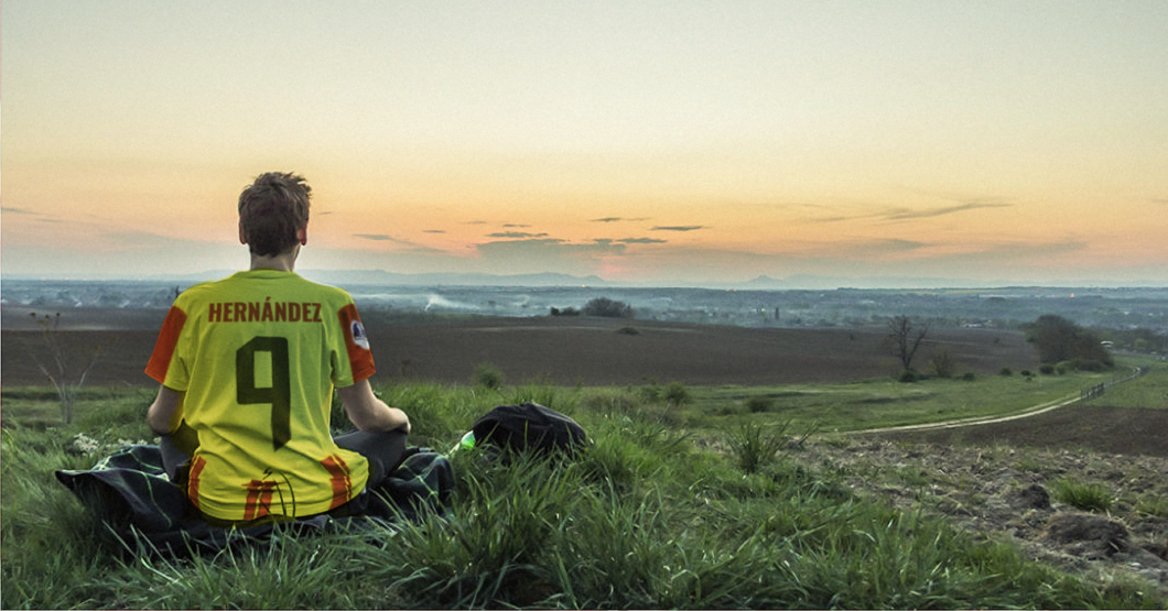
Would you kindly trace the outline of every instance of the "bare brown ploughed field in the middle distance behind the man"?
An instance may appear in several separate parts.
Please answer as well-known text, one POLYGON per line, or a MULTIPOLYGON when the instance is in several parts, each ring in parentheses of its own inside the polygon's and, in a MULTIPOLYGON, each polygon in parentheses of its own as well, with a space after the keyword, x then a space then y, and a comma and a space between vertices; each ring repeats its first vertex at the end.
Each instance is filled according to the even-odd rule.
MULTIPOLYGON (((79 310, 62 329, 79 352, 102 346, 89 384, 151 384, 142 373, 165 312, 79 310)), ((646 378, 688 385, 850 381, 897 371, 884 329, 746 329, 588 317, 454 318, 399 324, 366 316, 377 363, 375 381, 468 382, 478 364, 500 367, 508 384, 640 384, 646 378), (624 332, 621 332, 624 330, 624 332)), ((4 311, 2 379, 44 385, 30 354, 41 338, 27 311, 4 311)), ((993 374, 1034 368, 1021 335, 937 330, 922 347, 948 351, 959 371, 993 374)))

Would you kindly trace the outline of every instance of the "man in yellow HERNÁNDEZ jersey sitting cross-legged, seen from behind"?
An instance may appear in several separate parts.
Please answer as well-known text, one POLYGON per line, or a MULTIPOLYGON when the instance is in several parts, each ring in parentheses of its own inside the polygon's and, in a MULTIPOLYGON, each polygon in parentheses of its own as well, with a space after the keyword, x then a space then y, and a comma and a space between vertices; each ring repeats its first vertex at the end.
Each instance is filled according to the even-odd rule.
POLYGON ((373 354, 353 299, 293 272, 311 195, 303 177, 280 173, 243 190, 250 271, 179 295, 146 366, 161 384, 146 417, 167 473, 216 526, 359 513, 366 486, 405 451, 410 420, 369 386, 373 354), (357 428, 335 441, 334 387, 357 428))

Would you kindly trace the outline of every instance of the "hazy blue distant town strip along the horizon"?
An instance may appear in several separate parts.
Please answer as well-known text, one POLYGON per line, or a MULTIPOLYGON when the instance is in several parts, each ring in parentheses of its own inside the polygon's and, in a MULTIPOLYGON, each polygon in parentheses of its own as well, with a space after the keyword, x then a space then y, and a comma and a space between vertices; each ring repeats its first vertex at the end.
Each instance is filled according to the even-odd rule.
MULTIPOLYGON (((190 282, 193 283, 193 282, 190 282)), ((188 283, 187 286, 189 286, 188 283)), ((632 318, 735 326, 869 326, 912 316, 939 326, 1010 329, 1044 314, 1114 331, 1168 337, 1168 287, 1002 287, 939 289, 702 289, 623 286, 341 285, 362 312, 415 316, 549 316, 605 297, 632 318)), ((166 309, 174 281, 4 280, 14 308, 166 309)))

